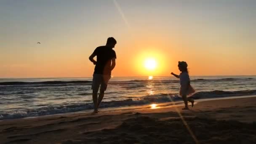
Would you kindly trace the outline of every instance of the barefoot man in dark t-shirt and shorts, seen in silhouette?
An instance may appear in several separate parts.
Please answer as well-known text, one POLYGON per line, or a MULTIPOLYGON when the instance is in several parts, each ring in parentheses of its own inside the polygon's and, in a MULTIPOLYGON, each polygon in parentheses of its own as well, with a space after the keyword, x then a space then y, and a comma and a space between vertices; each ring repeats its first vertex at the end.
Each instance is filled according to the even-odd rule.
POLYGON ((99 104, 104 97, 104 91, 107 89, 107 83, 110 80, 111 71, 115 68, 115 59, 117 57, 112 48, 115 48, 116 43, 117 41, 113 37, 109 37, 107 39, 107 44, 97 47, 89 57, 90 61, 95 65, 93 83, 91 86, 91 89, 93 90, 93 113, 99 112, 99 104), (96 61, 93 59, 95 56, 97 56, 96 61), (101 85, 101 87, 98 98, 99 85, 101 85))

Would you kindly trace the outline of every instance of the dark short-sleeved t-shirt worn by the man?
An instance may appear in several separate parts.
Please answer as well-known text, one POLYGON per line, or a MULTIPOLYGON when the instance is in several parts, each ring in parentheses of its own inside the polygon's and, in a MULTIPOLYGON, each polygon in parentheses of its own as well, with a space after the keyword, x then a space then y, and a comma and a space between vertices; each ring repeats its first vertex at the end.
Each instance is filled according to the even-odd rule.
POLYGON ((97 56, 94 74, 111 75, 111 59, 117 58, 115 51, 104 45, 97 47, 93 54, 97 56))

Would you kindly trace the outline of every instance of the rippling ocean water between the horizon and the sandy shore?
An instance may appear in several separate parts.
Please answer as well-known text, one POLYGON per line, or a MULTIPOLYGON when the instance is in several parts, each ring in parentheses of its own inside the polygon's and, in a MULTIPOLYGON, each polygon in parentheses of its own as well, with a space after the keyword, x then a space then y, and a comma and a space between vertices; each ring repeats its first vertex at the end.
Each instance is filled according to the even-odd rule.
MULTIPOLYGON (((190 76, 194 99, 256 94, 256 76, 190 76)), ((92 78, 0 79, 0 120, 93 109, 92 78)), ((181 101, 176 77, 112 77, 101 108, 181 101)))

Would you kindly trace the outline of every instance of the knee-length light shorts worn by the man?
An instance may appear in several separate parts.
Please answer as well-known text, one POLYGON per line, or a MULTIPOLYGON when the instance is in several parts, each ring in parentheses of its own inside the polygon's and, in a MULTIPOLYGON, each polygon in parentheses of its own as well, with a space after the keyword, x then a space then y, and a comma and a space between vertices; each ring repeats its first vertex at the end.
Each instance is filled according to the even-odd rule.
POLYGON ((100 91, 106 91, 107 83, 109 82, 110 78, 111 75, 93 74, 93 83, 91 85, 91 89, 98 92, 99 85, 101 85, 100 91))

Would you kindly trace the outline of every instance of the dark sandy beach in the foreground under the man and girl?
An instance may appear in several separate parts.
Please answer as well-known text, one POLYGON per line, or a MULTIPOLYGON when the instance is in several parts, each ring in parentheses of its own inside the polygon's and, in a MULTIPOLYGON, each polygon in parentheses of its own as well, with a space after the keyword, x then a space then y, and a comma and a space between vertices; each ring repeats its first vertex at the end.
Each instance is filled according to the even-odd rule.
POLYGON ((256 97, 0 121, 0 143, 255 144, 256 97), (191 106, 189 106, 191 107, 191 106))

